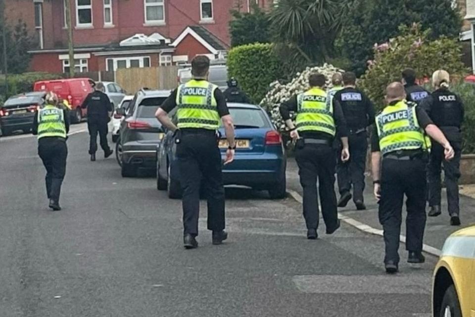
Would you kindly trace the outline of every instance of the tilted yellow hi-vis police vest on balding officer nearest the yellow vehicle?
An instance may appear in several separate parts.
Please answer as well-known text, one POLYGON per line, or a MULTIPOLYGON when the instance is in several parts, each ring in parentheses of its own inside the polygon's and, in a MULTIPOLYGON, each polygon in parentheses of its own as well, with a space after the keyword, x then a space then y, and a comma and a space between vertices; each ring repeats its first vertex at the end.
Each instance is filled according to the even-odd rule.
POLYGON ((427 141, 424 130, 419 126, 416 106, 414 103, 400 101, 394 106, 386 106, 376 116, 380 151, 383 155, 400 150, 428 151, 430 141, 427 141))

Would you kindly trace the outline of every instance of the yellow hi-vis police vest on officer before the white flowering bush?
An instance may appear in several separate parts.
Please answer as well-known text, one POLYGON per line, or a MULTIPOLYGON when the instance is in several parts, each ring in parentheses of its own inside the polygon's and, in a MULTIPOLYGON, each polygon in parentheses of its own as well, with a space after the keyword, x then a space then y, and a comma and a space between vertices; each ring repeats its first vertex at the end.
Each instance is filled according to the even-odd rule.
POLYGON ((335 136, 333 105, 327 93, 320 88, 312 88, 297 96, 297 131, 319 131, 335 136))

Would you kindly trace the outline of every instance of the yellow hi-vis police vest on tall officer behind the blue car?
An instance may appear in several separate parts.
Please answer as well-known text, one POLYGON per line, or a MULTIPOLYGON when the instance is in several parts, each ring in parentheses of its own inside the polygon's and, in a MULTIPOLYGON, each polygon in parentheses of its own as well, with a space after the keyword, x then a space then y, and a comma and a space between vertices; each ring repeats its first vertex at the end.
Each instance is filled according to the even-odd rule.
POLYGON ((219 113, 214 92, 218 86, 205 80, 190 80, 177 91, 178 128, 217 130, 219 113))

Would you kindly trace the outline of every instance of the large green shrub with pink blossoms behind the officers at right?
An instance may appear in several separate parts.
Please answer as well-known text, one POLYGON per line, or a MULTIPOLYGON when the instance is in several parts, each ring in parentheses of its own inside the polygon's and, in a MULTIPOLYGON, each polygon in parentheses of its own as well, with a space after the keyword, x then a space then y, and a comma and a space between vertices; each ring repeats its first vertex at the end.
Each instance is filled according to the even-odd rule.
POLYGON ((383 106, 385 87, 400 81, 406 67, 414 68, 420 78, 430 78, 437 69, 446 69, 454 77, 467 72, 457 40, 442 37, 429 41, 430 31, 422 32, 419 25, 401 27, 400 31, 402 35, 375 48, 375 60, 360 83, 379 107, 383 106))

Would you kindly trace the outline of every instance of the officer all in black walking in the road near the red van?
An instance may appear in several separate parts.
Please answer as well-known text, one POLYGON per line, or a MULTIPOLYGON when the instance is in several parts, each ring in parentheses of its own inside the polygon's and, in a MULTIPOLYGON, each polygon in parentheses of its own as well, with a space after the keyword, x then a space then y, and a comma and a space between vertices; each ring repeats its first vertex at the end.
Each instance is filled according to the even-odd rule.
POLYGON ((100 147, 104 151, 104 157, 107 159, 114 151, 109 148, 107 143, 107 123, 110 120, 109 113, 112 112, 112 104, 109 97, 103 93, 104 85, 97 83, 95 91, 89 94, 81 106, 83 109, 88 108, 88 129, 90 143, 89 154, 91 161, 95 161, 95 152, 97 151, 97 133, 99 134, 100 147))

